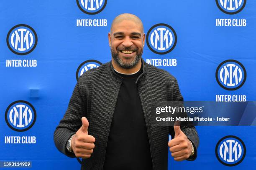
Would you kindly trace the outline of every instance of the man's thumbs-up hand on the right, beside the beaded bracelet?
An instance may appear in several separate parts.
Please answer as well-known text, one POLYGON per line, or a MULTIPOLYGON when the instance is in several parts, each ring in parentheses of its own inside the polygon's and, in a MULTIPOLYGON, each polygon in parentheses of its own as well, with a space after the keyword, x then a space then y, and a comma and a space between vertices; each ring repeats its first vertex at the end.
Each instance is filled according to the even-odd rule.
POLYGON ((186 160, 191 155, 191 143, 182 130, 180 130, 179 126, 174 126, 174 132, 174 139, 168 143, 172 157, 174 157, 174 160, 177 161, 186 160))

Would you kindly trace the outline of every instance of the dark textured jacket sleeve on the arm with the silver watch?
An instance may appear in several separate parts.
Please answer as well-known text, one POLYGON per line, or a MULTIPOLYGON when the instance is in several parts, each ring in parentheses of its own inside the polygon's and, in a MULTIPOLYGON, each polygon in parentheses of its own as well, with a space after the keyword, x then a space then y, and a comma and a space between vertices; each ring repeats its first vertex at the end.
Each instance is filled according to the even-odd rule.
MULTIPOLYGON (((80 80, 80 79, 79 79, 80 80)), ((56 148, 68 157, 75 158, 74 153, 70 153, 67 150, 67 141, 69 138, 77 132, 82 126, 82 117, 86 117, 86 102, 84 102, 81 91, 79 80, 77 81, 72 97, 69 100, 69 105, 64 117, 59 122, 54 132, 54 143, 56 148)))

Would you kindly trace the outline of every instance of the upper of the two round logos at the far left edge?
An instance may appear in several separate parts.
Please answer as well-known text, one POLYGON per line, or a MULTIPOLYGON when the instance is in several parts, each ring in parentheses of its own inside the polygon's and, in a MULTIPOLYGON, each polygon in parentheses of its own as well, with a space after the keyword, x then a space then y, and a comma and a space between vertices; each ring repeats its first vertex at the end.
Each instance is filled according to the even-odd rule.
POLYGON ((25 24, 15 25, 7 34, 7 46, 18 55, 32 52, 37 44, 37 35, 33 28, 25 24))

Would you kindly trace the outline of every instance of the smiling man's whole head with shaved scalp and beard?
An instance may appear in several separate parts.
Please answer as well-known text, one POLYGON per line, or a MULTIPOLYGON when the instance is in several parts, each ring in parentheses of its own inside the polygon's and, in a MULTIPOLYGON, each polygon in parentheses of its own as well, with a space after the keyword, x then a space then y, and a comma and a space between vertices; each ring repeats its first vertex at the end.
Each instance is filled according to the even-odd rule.
POLYGON ((118 68, 127 73, 140 69, 145 42, 140 18, 126 13, 118 15, 111 24, 108 41, 115 69, 118 68))

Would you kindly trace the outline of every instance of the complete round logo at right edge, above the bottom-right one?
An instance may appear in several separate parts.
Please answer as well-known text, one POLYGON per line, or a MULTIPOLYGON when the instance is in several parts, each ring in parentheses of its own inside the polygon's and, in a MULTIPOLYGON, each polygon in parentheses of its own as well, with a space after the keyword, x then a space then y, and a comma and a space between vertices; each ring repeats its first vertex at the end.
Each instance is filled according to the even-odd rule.
POLYGON ((216 69, 218 84, 226 90, 237 90, 246 81, 246 69, 236 60, 225 60, 216 69))

